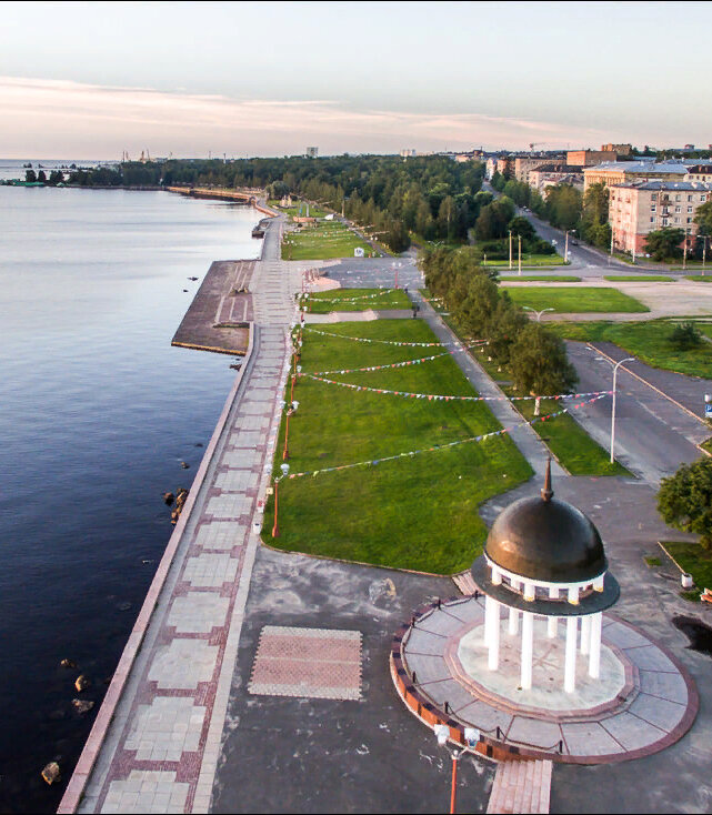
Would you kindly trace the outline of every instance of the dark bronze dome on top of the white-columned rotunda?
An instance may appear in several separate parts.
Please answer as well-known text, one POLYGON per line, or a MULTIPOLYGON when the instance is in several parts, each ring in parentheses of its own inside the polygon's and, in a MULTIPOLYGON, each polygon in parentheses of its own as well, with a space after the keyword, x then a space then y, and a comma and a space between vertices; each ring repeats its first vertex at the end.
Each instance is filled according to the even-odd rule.
POLYGON ((593 523, 551 492, 521 499, 501 512, 484 552, 508 572, 545 583, 581 583, 608 567, 593 523))

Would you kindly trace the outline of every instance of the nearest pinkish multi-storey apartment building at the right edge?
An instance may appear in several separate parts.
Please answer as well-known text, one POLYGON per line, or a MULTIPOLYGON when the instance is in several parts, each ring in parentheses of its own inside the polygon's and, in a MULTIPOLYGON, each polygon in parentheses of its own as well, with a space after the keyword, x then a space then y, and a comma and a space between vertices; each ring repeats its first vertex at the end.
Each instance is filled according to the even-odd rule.
POLYGON ((698 231, 694 215, 712 195, 712 183, 699 181, 629 181, 610 185, 609 223, 613 245, 624 252, 645 252, 645 238, 665 227, 698 231))

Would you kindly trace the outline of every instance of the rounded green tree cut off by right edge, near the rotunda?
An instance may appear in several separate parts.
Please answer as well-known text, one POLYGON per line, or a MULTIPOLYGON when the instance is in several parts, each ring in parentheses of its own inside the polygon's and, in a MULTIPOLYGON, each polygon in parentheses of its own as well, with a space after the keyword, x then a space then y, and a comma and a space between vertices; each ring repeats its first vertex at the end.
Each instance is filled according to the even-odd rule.
POLYGON ((712 459, 683 464, 663 479, 658 493, 658 512, 681 532, 696 532, 700 543, 712 550, 712 459))

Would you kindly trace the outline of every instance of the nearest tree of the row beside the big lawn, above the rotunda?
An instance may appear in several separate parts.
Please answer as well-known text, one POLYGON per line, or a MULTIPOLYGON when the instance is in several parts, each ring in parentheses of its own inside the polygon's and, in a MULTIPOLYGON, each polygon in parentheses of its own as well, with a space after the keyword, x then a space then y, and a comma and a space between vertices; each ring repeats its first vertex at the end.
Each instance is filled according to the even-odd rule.
POLYGON ((510 371, 520 391, 536 396, 566 393, 578 382, 566 346, 543 325, 530 322, 510 348, 510 371))

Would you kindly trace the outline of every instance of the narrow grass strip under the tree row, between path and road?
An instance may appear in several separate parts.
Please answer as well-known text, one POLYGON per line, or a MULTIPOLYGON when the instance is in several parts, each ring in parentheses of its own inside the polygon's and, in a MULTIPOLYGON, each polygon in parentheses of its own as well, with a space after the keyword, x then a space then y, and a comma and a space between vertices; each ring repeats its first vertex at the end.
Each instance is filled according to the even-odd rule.
MULTIPOLYGON (((507 381, 509 374, 505 370, 498 371, 497 363, 488 362, 487 351, 473 354, 477 361, 494 380, 507 381)), ((500 385, 508 396, 518 395, 511 386, 500 385)), ((574 404, 575 400, 542 399, 540 415, 556 413, 568 405, 574 404)), ((534 400, 521 400, 514 402, 517 410, 531 421, 534 419, 534 400)), ((573 419, 564 413, 545 422, 535 422, 532 430, 546 444, 556 460, 572 475, 630 475, 631 473, 618 462, 611 464, 610 453, 583 430, 573 419)))

